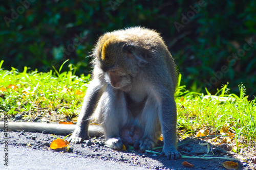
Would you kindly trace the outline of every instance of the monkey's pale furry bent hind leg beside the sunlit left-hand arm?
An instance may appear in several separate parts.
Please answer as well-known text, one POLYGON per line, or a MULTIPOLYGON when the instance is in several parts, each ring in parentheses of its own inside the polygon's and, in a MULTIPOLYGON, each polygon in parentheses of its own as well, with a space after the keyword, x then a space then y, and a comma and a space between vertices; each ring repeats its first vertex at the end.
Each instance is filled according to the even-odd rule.
POLYGON ((101 108, 105 143, 114 150, 121 150, 123 143, 120 138, 120 128, 128 120, 124 93, 108 85, 101 96, 98 107, 101 108))

